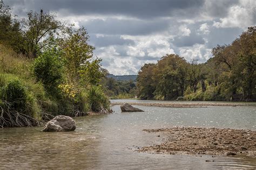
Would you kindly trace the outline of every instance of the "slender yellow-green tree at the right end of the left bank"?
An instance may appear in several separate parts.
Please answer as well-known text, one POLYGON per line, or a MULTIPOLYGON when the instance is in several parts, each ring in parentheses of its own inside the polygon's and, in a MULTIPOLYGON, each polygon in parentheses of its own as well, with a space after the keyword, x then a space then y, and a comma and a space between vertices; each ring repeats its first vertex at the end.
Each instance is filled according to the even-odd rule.
POLYGON ((98 85, 104 76, 100 64, 102 60, 93 56, 95 47, 89 45, 88 41, 89 36, 84 27, 78 30, 70 28, 68 37, 60 39, 59 45, 64 52, 69 79, 73 82, 80 80, 81 83, 98 85))

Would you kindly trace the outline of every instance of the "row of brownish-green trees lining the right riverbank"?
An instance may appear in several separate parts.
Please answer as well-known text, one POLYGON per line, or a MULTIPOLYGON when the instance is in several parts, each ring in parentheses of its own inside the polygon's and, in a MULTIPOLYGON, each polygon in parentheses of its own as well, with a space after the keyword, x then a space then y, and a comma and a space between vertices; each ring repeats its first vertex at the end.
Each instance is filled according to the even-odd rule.
POLYGON ((137 79, 144 100, 256 101, 256 26, 230 45, 212 49, 206 63, 166 54, 145 64, 137 79))

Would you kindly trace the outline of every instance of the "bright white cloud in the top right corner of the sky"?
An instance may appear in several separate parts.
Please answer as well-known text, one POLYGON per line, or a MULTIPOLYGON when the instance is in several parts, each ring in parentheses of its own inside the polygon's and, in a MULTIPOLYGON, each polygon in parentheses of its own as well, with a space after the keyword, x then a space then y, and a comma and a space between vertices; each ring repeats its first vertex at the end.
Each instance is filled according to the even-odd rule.
POLYGON ((255 25, 256 1, 239 1, 239 5, 231 6, 228 14, 220 18, 220 22, 213 23, 215 27, 240 27, 246 29, 248 26, 255 25))

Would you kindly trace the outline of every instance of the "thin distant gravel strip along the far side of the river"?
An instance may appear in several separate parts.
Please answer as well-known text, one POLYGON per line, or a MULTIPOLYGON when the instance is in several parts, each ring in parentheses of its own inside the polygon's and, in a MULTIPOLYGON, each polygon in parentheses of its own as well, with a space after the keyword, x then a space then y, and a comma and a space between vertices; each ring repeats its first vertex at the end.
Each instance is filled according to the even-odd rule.
MULTIPOLYGON (((256 104, 250 104, 250 103, 133 103, 133 102, 127 102, 131 105, 143 105, 147 107, 167 107, 167 108, 205 108, 207 106, 231 106, 231 107, 236 107, 236 106, 248 106, 248 105, 254 105, 256 104)), ((111 103, 111 105, 122 105, 124 103, 121 102, 114 102, 111 103)))

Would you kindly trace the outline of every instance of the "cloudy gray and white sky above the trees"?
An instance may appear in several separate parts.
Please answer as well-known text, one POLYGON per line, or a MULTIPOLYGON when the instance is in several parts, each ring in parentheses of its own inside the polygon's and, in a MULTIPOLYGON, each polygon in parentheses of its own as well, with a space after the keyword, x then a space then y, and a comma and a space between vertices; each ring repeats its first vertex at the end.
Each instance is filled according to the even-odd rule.
POLYGON ((19 18, 30 10, 84 26, 94 54, 114 75, 138 74, 165 54, 206 62, 213 47, 256 25, 255 0, 5 0, 19 18))

